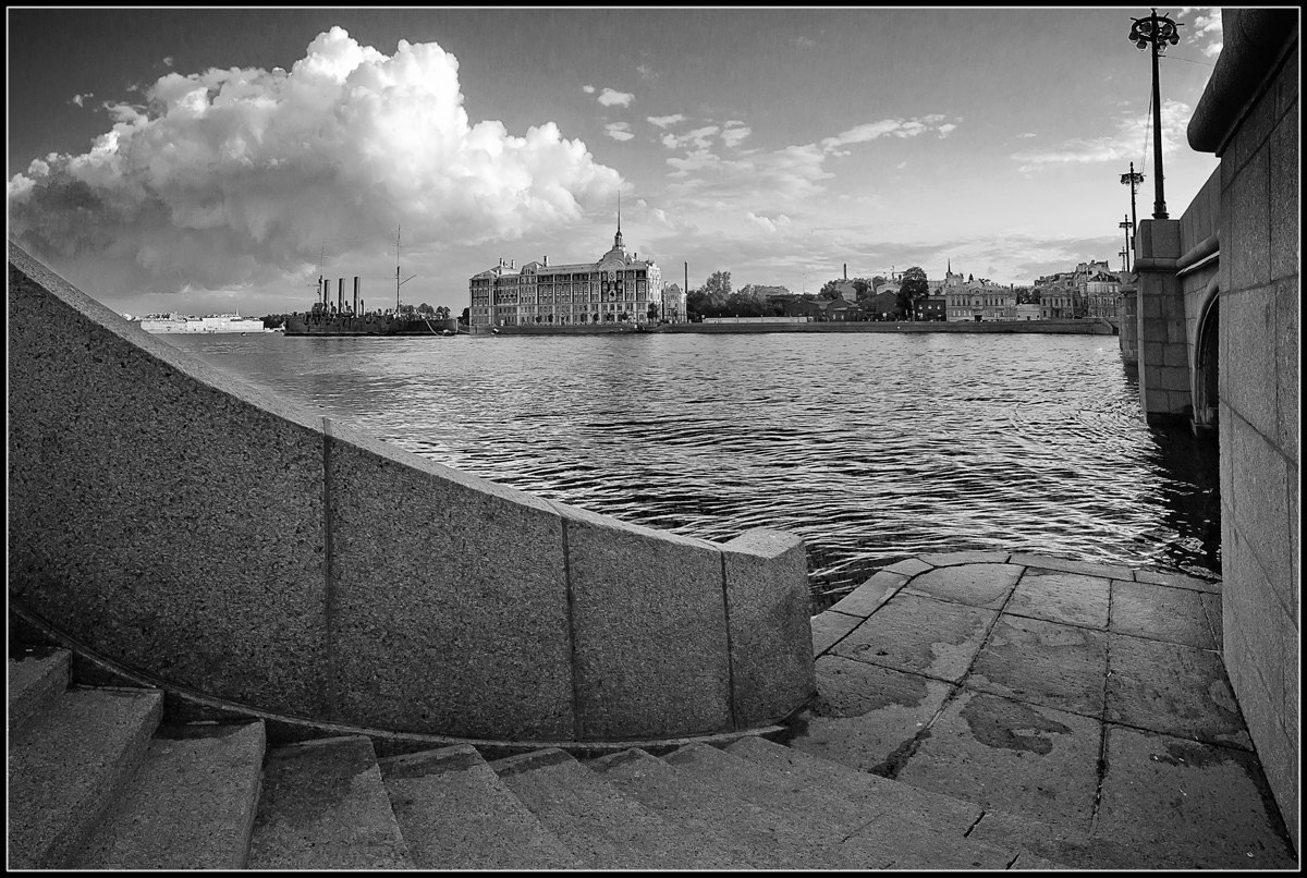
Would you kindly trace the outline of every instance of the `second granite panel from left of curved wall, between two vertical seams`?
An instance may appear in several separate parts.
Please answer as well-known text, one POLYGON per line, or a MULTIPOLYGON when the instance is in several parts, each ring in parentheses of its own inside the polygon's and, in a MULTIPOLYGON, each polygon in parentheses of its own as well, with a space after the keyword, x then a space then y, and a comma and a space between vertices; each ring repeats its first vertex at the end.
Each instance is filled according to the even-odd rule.
POLYGON ((332 430, 333 719, 471 738, 571 738, 557 512, 332 430))

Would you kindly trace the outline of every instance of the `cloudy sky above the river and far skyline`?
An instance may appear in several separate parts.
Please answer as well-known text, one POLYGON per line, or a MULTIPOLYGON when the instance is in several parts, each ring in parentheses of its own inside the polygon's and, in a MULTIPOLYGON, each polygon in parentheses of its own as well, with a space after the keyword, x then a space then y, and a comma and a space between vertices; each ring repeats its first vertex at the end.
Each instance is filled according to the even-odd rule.
MULTIPOLYGON (((459 312, 499 259, 596 261, 618 199, 691 289, 1116 268, 1131 162, 1153 214, 1149 12, 10 7, 7 227, 136 315, 303 311, 320 274, 393 302, 397 233, 401 301, 459 312)), ((1221 14, 1158 13, 1179 218, 1221 14)))

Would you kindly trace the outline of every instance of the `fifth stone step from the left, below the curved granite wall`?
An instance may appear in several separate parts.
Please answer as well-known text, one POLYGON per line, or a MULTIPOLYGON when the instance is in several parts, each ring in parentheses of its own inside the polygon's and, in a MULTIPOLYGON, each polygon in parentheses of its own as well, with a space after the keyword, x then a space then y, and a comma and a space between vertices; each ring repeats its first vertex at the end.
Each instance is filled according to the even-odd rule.
POLYGON ((471 745, 378 762, 418 869, 569 869, 580 861, 471 745))

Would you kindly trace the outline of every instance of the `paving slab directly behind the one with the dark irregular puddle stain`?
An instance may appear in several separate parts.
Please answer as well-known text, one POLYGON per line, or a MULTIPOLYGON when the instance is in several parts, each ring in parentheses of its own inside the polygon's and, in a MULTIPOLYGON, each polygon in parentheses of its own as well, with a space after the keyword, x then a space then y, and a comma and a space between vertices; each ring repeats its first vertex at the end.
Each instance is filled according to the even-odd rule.
POLYGON ((1102 717, 1106 677, 1106 632, 1004 614, 962 685, 1102 717))

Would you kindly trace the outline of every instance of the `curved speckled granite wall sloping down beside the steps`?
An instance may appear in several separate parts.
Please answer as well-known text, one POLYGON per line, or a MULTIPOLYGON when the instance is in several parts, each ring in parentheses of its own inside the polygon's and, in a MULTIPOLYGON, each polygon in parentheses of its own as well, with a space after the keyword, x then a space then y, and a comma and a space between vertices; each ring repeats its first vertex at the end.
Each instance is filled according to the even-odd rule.
POLYGON ((799 538, 488 482, 240 384, 9 244, 9 597, 165 685, 471 738, 665 738, 814 691, 799 538))

